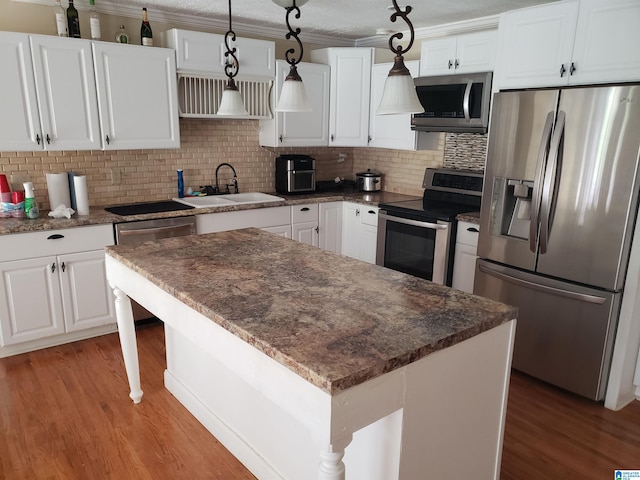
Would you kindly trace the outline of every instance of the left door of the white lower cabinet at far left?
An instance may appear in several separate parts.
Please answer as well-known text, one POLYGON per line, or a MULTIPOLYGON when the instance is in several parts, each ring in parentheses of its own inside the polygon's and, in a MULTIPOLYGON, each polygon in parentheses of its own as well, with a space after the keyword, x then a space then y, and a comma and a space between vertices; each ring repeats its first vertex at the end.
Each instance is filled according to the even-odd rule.
POLYGON ((0 263, 2 345, 64 333, 56 257, 0 263))

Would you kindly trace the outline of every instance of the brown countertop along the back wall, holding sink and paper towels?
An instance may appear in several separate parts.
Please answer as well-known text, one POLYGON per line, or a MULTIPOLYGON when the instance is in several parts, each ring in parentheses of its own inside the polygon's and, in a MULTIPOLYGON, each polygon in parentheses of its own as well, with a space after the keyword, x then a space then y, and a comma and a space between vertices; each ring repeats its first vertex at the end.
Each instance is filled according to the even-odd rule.
POLYGON ((108 223, 134 222, 137 220, 152 220, 155 218, 185 217, 192 215, 203 215, 207 213, 229 212, 239 210, 250 210, 255 208, 281 207, 287 205, 300 205, 303 203, 323 203, 350 201, 366 205, 377 206, 381 203, 398 202, 401 200, 414 200, 415 196, 403 195, 393 192, 339 192, 339 193, 313 193, 308 195, 281 195, 274 194, 285 199, 284 202, 267 202, 259 204, 244 204, 219 206, 211 208, 193 208, 188 210, 178 210, 174 212, 147 213, 142 215, 115 215, 107 212, 104 208, 109 206, 91 207, 89 215, 73 215, 71 218, 51 218, 49 212, 40 212, 40 217, 35 219, 25 218, 0 218, 0 235, 10 233, 35 232, 42 230, 58 230, 62 228, 81 227, 85 225, 100 225, 108 223))

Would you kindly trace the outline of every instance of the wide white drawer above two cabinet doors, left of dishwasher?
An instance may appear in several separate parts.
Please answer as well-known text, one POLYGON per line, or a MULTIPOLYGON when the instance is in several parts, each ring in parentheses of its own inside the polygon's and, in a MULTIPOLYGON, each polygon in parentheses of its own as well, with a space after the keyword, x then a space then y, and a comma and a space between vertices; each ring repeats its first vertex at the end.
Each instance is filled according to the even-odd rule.
POLYGON ((113 225, 92 225, 0 236, 0 261, 99 250, 114 244, 113 225))

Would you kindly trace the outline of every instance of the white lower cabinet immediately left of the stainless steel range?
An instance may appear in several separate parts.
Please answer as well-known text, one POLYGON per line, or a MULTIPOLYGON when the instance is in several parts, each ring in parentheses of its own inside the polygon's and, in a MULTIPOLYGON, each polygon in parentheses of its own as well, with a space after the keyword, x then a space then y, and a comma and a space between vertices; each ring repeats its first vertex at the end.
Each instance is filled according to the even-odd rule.
POLYGON ((342 254, 376 263, 378 207, 344 202, 342 254))

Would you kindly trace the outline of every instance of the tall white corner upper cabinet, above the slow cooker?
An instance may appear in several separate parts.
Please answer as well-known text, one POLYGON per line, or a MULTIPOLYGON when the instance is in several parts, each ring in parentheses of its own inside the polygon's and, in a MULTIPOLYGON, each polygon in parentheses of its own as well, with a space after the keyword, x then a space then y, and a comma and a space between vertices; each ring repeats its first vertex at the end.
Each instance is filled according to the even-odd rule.
POLYGON ((373 49, 324 48, 312 51, 311 60, 331 67, 329 146, 366 147, 373 49))

